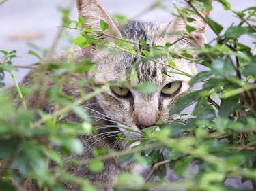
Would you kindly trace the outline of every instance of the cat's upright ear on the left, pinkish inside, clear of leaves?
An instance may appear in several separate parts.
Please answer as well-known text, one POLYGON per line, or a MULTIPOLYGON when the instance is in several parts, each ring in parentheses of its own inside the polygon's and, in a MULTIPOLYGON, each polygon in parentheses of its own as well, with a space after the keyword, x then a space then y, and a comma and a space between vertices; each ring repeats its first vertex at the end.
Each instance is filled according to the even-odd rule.
MULTIPOLYGON (((104 20, 104 22, 109 24, 109 29, 106 29, 104 33, 114 37, 122 37, 119 29, 109 14, 106 13, 102 5, 100 5, 98 0, 76 0, 76 5, 79 16, 82 16, 85 19, 85 28, 92 27, 94 31, 102 31, 100 20, 104 20)), ((97 37, 106 39, 106 36, 102 35, 97 35, 97 37)))

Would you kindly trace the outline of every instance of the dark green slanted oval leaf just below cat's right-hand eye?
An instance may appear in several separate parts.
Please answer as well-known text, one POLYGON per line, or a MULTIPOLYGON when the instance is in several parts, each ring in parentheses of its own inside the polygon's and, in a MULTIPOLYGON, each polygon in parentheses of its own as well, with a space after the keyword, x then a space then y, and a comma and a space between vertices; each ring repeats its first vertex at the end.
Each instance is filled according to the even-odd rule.
POLYGON ((180 114, 180 112, 188 107, 191 103, 197 101, 199 99, 198 92, 191 92, 190 94, 187 94, 186 96, 177 99, 175 105, 171 107, 169 114, 180 114))

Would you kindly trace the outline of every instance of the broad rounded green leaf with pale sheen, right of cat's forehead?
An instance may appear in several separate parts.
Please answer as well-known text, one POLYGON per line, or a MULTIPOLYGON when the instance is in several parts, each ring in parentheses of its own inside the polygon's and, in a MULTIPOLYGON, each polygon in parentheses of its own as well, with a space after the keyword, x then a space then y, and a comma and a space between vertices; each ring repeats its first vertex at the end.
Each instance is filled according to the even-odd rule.
POLYGON ((222 77, 236 76, 236 70, 234 69, 231 61, 227 58, 218 58, 212 63, 212 70, 216 75, 222 77))

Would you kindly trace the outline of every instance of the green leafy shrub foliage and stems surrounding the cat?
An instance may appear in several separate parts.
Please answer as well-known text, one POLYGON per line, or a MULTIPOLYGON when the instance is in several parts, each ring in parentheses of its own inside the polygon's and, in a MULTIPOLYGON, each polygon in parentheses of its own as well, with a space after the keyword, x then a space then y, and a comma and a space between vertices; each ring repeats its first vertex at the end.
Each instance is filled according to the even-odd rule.
MULTIPOLYGON (((115 190, 148 190, 158 186, 167 190, 240 190, 223 184, 228 177, 240 177, 241 181, 251 180, 252 189, 255 190, 256 56, 250 46, 242 44, 240 37, 251 37, 255 44, 256 9, 248 7, 246 10, 235 12, 227 0, 218 2, 223 5, 225 11, 233 12, 240 18, 240 23, 224 30, 218 22, 207 18, 216 39, 204 47, 195 48, 199 53, 198 58, 193 58, 186 50, 182 54, 170 52, 169 43, 165 46, 148 47, 143 39, 139 42, 142 46, 147 46, 147 50, 141 50, 143 54, 138 54, 132 48, 134 42, 127 39, 115 39, 115 44, 104 44, 94 39, 95 35, 106 35, 104 31, 109 25, 104 20, 100 20, 102 31, 93 31, 82 28, 85 22, 83 19, 72 21, 64 14, 63 20, 66 20, 67 26, 81 31, 81 35, 74 39, 77 46, 104 45, 125 50, 140 56, 142 60, 154 60, 156 63, 156 58, 171 54, 177 59, 187 59, 208 67, 207 71, 201 71, 192 77, 177 70, 173 60, 158 63, 173 68, 175 73, 191 77, 191 86, 202 83, 202 88, 193 90, 177 100, 169 111, 169 122, 158 122, 156 126, 143 130, 145 139, 139 145, 121 152, 96 150, 95 158, 91 160, 64 161, 63 156, 72 152, 80 154, 83 145, 76 137, 89 135, 95 131, 87 110, 79 105, 102 92, 103 88, 94 86, 90 80, 81 80, 81 87, 91 84, 94 92, 86 94, 81 90, 83 97, 73 101, 72 97, 63 94, 61 87, 74 73, 89 71, 94 63, 87 61, 72 64, 68 60, 66 63, 51 63, 48 67, 42 67, 44 71, 53 72, 52 80, 56 84, 50 90, 46 90, 47 99, 56 103, 55 111, 46 114, 40 109, 27 107, 25 97, 29 97, 40 88, 37 85, 29 88, 18 86, 13 74, 18 67, 12 65, 12 59, 16 58, 16 50, 1 50, 3 58, 0 65, 0 190, 17 190, 12 180, 22 184, 25 179, 35 179, 41 188, 51 190, 63 190, 61 183, 66 181, 81 185, 81 190, 98 190, 87 179, 70 175, 65 168, 68 164, 89 164, 89 169, 98 173, 104 169, 102 160, 114 157, 117 157, 119 162, 152 166, 152 171, 145 181, 139 175, 120 175, 115 190), (76 27, 70 27, 74 24, 76 27), (16 84, 12 91, 16 91, 16 97, 20 97, 22 101, 18 108, 10 100, 10 91, 3 88, 5 72, 12 75, 16 84), (186 114, 184 109, 189 105, 195 107, 192 112, 186 114), (59 122, 61 117, 70 111, 83 119, 83 122, 59 122), (49 169, 51 161, 55 163, 55 167, 49 169), (187 171, 190 164, 199 166, 196 175, 191 175, 187 171), (182 179, 175 182, 167 181, 167 169, 173 169, 182 179), (159 180, 150 181, 154 176, 159 177, 159 180)), ((187 3, 190 4, 190 1, 187 3)), ((204 6, 205 9, 211 9, 207 2, 204 6)), ((187 12, 179 11, 189 23, 194 22, 187 12)), ((125 20, 123 16, 119 18, 125 20)), ((187 25, 186 29, 186 35, 193 36, 191 32, 195 31, 195 28, 187 25)), ((33 54, 39 60, 42 59, 32 50, 29 54, 33 54)), ((156 86, 150 83, 139 84, 137 89, 143 93, 151 93, 156 90, 156 86)), ((125 138, 120 135, 120 139, 125 138)), ((129 139, 127 146, 136 141, 129 139)))

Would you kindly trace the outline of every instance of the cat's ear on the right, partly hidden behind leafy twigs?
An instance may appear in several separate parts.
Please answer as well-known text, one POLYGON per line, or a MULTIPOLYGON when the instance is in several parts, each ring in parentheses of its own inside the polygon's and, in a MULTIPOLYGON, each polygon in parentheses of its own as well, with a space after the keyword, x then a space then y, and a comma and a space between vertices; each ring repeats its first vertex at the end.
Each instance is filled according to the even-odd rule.
MULTIPOLYGON (((192 35, 194 39, 197 40, 197 44, 199 44, 200 46, 203 46, 203 44, 206 43, 205 28, 207 23, 203 18, 208 16, 210 12, 208 10, 200 10, 199 7, 197 7, 200 3, 201 2, 199 1, 195 1, 195 3, 191 3, 190 5, 186 5, 186 7, 184 7, 184 10, 189 15, 188 16, 189 20, 193 20, 193 22, 188 22, 186 18, 182 18, 182 16, 179 16, 169 24, 169 27, 167 27, 167 31, 166 31, 167 38, 169 41, 171 42, 176 41, 177 37, 180 37, 180 35, 177 35, 177 33, 186 33, 187 32, 186 25, 189 25, 190 27, 195 28, 195 31, 192 32, 192 35), (168 35, 168 33, 170 33, 170 35, 168 35)), ((211 1, 208 4, 210 5, 211 1)), ((190 41, 191 43, 195 44, 194 39, 190 39, 190 41)))

